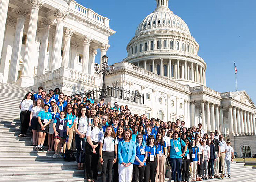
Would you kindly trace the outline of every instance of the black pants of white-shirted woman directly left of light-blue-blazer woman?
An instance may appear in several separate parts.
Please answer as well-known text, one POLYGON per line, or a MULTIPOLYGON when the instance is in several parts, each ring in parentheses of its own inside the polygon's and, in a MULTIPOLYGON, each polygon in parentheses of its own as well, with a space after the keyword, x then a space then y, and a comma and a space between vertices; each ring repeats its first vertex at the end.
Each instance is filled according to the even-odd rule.
POLYGON ((103 165, 101 171, 101 181, 106 182, 106 174, 108 174, 108 182, 112 181, 112 167, 115 158, 115 152, 102 151, 103 165))

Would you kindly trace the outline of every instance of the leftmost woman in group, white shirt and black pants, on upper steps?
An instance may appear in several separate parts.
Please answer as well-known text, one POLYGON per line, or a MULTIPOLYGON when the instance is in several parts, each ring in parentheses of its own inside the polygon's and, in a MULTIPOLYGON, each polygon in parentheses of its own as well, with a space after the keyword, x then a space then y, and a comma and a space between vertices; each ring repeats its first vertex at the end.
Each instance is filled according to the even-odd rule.
POLYGON ((29 120, 31 109, 34 104, 34 96, 28 92, 20 103, 20 134, 19 137, 26 137, 27 129, 29 128, 29 120))

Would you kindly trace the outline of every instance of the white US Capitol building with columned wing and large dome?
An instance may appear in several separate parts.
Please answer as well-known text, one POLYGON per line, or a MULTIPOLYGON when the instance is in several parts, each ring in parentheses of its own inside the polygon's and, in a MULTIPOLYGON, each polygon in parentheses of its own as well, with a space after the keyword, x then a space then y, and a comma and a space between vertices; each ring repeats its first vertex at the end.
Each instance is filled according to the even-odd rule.
MULTIPOLYGON (((206 62, 187 24, 156 0, 127 45, 128 56, 107 75, 108 86, 144 94, 132 113, 165 122, 198 123, 230 138, 238 157, 256 153, 255 105, 246 91, 220 93, 206 86, 206 62), (253 141, 253 142, 252 142, 253 141)), ((65 94, 102 86, 95 56, 109 48, 109 19, 74 0, 0 0, 0 81, 65 94)), ((102 67, 102 60, 101 60, 102 67)))

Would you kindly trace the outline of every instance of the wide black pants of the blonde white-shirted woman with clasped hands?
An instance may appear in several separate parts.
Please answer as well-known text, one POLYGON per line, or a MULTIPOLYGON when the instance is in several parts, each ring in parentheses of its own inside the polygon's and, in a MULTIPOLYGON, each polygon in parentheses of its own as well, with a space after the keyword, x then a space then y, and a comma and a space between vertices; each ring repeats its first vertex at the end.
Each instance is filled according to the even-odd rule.
MULTIPOLYGON (((98 142, 93 142, 96 145, 98 142)), ((88 142, 86 142, 86 156, 85 166, 87 179, 97 180, 98 178, 98 163, 99 163, 99 146, 95 149, 96 154, 93 154, 92 148, 88 142)))

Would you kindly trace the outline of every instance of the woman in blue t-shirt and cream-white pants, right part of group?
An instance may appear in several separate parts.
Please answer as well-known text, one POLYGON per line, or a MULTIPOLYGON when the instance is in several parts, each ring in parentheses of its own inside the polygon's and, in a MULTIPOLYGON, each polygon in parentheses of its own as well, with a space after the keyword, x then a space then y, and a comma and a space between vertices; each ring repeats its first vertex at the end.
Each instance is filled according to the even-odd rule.
POLYGON ((196 141, 194 139, 190 142, 189 150, 191 152, 191 158, 193 163, 191 163, 190 173, 191 173, 191 181, 196 181, 196 172, 197 172, 197 165, 200 165, 200 154, 199 148, 196 146, 196 141))

